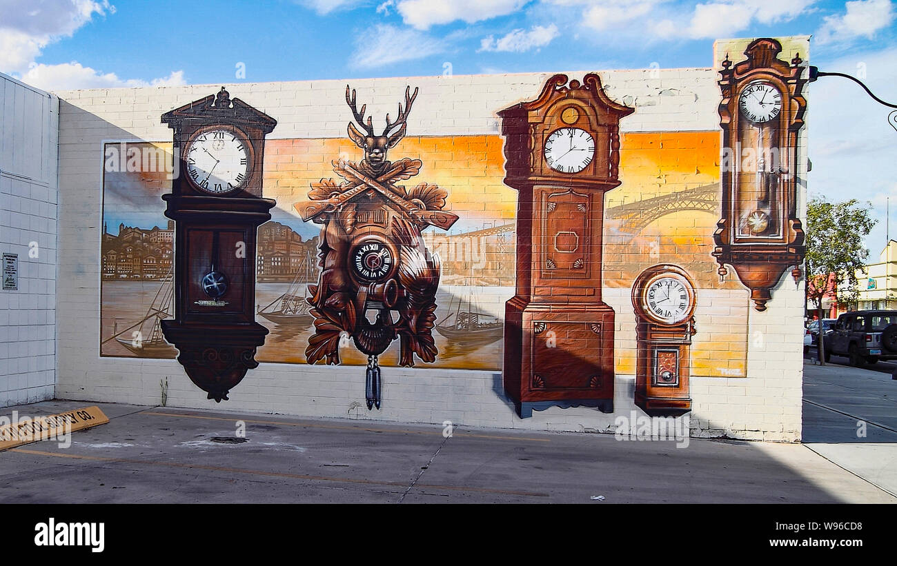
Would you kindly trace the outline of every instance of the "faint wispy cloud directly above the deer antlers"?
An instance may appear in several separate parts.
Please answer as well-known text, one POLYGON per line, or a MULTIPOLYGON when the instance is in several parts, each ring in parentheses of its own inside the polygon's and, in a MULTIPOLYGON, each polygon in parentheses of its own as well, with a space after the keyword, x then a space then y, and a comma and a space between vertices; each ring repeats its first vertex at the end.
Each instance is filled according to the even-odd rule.
POLYGON ((446 43, 417 30, 378 24, 355 41, 350 64, 355 68, 374 68, 400 61, 422 59, 446 50, 446 43))

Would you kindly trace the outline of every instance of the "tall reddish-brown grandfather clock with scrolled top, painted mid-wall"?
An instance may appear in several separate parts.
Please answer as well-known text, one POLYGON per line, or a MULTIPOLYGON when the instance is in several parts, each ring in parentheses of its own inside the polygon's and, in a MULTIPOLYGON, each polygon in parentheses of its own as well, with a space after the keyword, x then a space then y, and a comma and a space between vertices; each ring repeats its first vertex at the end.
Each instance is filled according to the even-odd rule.
POLYGON ((506 108, 505 184, 517 189, 517 292, 505 309, 504 388, 520 416, 553 405, 613 411, 614 310, 601 300, 604 194, 620 184, 633 108, 597 74, 549 79, 506 108))

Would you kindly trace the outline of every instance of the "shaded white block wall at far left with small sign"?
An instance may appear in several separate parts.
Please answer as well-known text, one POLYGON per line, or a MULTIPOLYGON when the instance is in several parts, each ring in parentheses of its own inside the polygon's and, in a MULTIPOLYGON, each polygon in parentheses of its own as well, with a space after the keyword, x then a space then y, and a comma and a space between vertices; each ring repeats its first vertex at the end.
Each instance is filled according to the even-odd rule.
POLYGON ((56 383, 57 97, 0 74, 0 407, 53 399, 56 383))

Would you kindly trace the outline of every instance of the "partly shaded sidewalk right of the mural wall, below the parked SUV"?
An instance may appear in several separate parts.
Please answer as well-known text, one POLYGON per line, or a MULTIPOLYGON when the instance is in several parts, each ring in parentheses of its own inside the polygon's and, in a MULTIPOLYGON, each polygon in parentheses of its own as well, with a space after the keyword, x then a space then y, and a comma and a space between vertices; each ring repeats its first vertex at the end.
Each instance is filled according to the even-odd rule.
POLYGON ((890 373, 805 361, 803 438, 825 459, 897 494, 897 381, 890 373))

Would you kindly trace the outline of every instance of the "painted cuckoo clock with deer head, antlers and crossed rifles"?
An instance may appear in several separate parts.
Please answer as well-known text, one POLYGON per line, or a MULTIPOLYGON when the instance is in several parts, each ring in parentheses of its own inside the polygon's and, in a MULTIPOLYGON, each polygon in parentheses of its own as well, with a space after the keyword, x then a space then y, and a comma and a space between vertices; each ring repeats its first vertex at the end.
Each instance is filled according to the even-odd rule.
POLYGON ((334 161, 341 182, 313 183, 310 202, 296 205, 303 220, 323 225, 322 272, 318 285, 309 286, 315 334, 309 338, 306 359, 309 364, 339 364, 340 337, 351 337, 368 356, 369 409, 379 408, 382 397, 378 356, 395 339, 403 366, 414 365, 414 356, 432 362, 438 353, 431 330, 440 260, 424 246, 421 233, 431 226, 447 230, 458 217, 442 210, 448 193, 439 186, 420 183, 406 189, 398 184, 418 174, 420 159, 387 159, 387 151, 405 135, 416 97, 417 89, 414 94, 410 87, 405 89, 405 109, 399 104, 395 122, 387 115, 386 128, 377 135, 370 117, 364 119, 365 106, 357 109, 355 91, 350 94, 346 86, 346 104, 358 123, 350 122, 347 130, 364 150, 364 159, 334 161))

